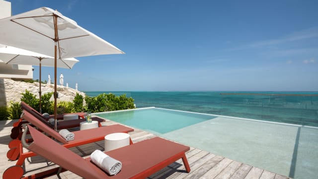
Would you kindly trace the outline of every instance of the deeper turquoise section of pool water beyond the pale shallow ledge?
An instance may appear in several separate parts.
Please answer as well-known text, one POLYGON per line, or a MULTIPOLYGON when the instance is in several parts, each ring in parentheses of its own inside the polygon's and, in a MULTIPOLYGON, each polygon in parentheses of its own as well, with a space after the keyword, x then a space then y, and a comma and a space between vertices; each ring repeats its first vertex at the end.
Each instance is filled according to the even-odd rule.
POLYGON ((165 134, 215 117, 200 113, 189 113, 160 108, 99 113, 96 115, 141 130, 150 131, 157 135, 165 134))

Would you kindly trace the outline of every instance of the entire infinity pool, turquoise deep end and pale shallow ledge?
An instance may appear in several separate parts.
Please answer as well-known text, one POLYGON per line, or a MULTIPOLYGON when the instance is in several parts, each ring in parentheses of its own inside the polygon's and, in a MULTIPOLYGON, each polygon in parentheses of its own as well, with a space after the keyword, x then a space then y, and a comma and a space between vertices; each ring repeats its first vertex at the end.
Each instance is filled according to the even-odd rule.
POLYGON ((318 176, 318 128, 161 108, 95 113, 295 179, 318 176))

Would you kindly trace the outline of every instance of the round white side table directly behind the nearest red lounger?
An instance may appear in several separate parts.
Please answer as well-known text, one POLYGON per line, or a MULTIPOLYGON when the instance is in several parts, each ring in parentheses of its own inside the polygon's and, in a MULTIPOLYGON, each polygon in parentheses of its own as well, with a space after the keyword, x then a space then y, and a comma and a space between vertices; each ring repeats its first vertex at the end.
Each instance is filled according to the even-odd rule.
POLYGON ((129 145, 129 134, 113 133, 105 136, 105 152, 129 145))

